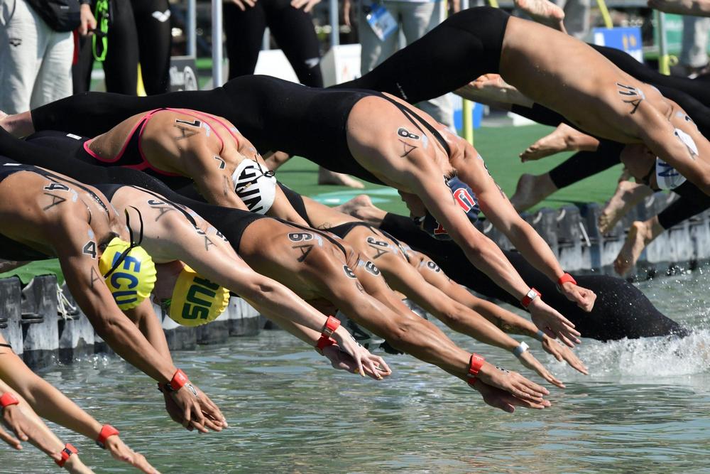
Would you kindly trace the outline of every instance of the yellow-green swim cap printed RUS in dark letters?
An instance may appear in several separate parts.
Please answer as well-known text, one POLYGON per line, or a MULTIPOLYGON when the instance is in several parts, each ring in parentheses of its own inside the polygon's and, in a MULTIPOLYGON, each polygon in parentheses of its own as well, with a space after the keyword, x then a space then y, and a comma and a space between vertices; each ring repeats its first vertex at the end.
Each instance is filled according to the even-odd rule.
POLYGON ((199 326, 217 319, 229 304, 229 290, 195 273, 189 266, 178 276, 168 316, 184 326, 199 326))

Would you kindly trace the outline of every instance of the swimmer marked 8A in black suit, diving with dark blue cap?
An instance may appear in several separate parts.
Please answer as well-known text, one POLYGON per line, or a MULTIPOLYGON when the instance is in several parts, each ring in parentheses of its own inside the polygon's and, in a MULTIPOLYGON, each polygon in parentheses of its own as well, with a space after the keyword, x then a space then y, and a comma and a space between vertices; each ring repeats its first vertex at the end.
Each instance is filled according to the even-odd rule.
MULTIPOLYGON (((547 335, 570 346, 578 340, 579 333, 569 321, 547 306, 535 289, 520 279, 500 249, 472 225, 479 205, 526 258, 544 269, 551 281, 561 284, 568 298, 588 311, 594 306, 594 293, 569 279, 550 247, 514 212, 473 147, 405 102, 376 92, 316 90, 274 77, 244 76, 197 95, 180 92, 138 100, 77 95, 36 109, 26 118, 33 119, 37 129, 48 129, 53 123, 72 129, 74 134, 92 133, 110 128, 124 115, 135 114, 129 110, 150 107, 143 99, 150 99, 150 104, 195 104, 230 119, 257 149, 296 153, 332 171, 398 188, 428 232, 454 239, 472 263, 515 298, 530 303, 535 323, 547 335), (283 102, 286 98, 288 103, 283 102), (67 120, 58 120, 60 115, 67 120), (265 134, 263 123, 268 123, 273 133, 265 134), (300 126, 296 128, 294 123, 300 126), (465 190, 470 205, 454 200, 453 193, 459 189, 465 190), (467 210, 461 212, 463 208, 467 210)), ((6 123, 10 122, 16 119, 6 123)))

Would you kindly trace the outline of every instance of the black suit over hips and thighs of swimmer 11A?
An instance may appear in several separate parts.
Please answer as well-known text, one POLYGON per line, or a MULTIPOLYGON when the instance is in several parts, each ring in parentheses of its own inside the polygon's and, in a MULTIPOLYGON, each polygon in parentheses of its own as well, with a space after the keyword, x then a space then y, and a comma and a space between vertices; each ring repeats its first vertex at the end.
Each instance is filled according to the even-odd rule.
POLYGON ((460 11, 366 75, 334 87, 388 92, 412 104, 439 97, 498 72, 508 18, 488 6, 460 11))

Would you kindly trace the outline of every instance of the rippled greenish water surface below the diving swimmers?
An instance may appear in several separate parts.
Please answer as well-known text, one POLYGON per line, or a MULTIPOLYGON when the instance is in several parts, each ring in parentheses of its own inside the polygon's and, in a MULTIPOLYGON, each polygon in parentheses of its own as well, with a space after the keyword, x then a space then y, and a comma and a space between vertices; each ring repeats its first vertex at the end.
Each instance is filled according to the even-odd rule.
MULTIPOLYGON (((281 331, 176 352, 176 365, 217 402, 231 428, 199 435, 168 419, 155 384, 115 357, 54 367, 56 384, 163 473, 710 473, 710 277, 640 284, 684 340, 584 340, 588 377, 528 341, 567 389, 553 406, 492 409, 436 367, 389 356, 384 382, 337 372, 281 331)), ((448 330, 447 330, 448 332, 448 330)), ((454 340, 499 365, 530 371, 502 350, 454 340)), ((97 472, 127 472, 86 438, 58 429, 97 472)), ((0 472, 56 472, 33 448, 0 447, 0 472)))

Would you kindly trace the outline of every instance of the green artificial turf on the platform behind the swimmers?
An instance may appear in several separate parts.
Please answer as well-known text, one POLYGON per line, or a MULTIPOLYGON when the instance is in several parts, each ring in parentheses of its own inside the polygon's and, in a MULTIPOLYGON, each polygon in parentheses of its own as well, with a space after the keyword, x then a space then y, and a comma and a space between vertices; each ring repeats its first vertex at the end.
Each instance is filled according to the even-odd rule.
MULTIPOLYGON (((484 127, 476 130, 475 146, 481 153, 488 170, 493 178, 501 185, 510 196, 515 191, 515 184, 523 173, 540 174, 562 163, 572 153, 561 153, 557 156, 544 158, 540 161, 520 163, 518 153, 523 151, 533 141, 550 133, 551 127, 542 125, 528 125, 517 127, 484 127)), ((536 208, 559 208, 567 204, 583 204, 590 202, 603 203, 616 188, 616 180, 621 173, 621 165, 615 166, 596 176, 591 176, 581 183, 572 185, 569 189, 555 193, 544 200, 536 208)), ((405 205, 399 195, 392 188, 365 183, 365 190, 351 190, 343 186, 318 185, 317 165, 304 158, 293 158, 279 168, 277 177, 293 190, 309 195, 329 205, 338 205, 345 200, 361 193, 371 196, 373 202, 380 208, 389 212, 399 212, 408 215, 405 205)), ((33 262, 23 266, 17 271, 12 271, 2 276, 18 275, 23 282, 27 282, 35 275, 56 273, 60 275, 57 260, 33 262)))

